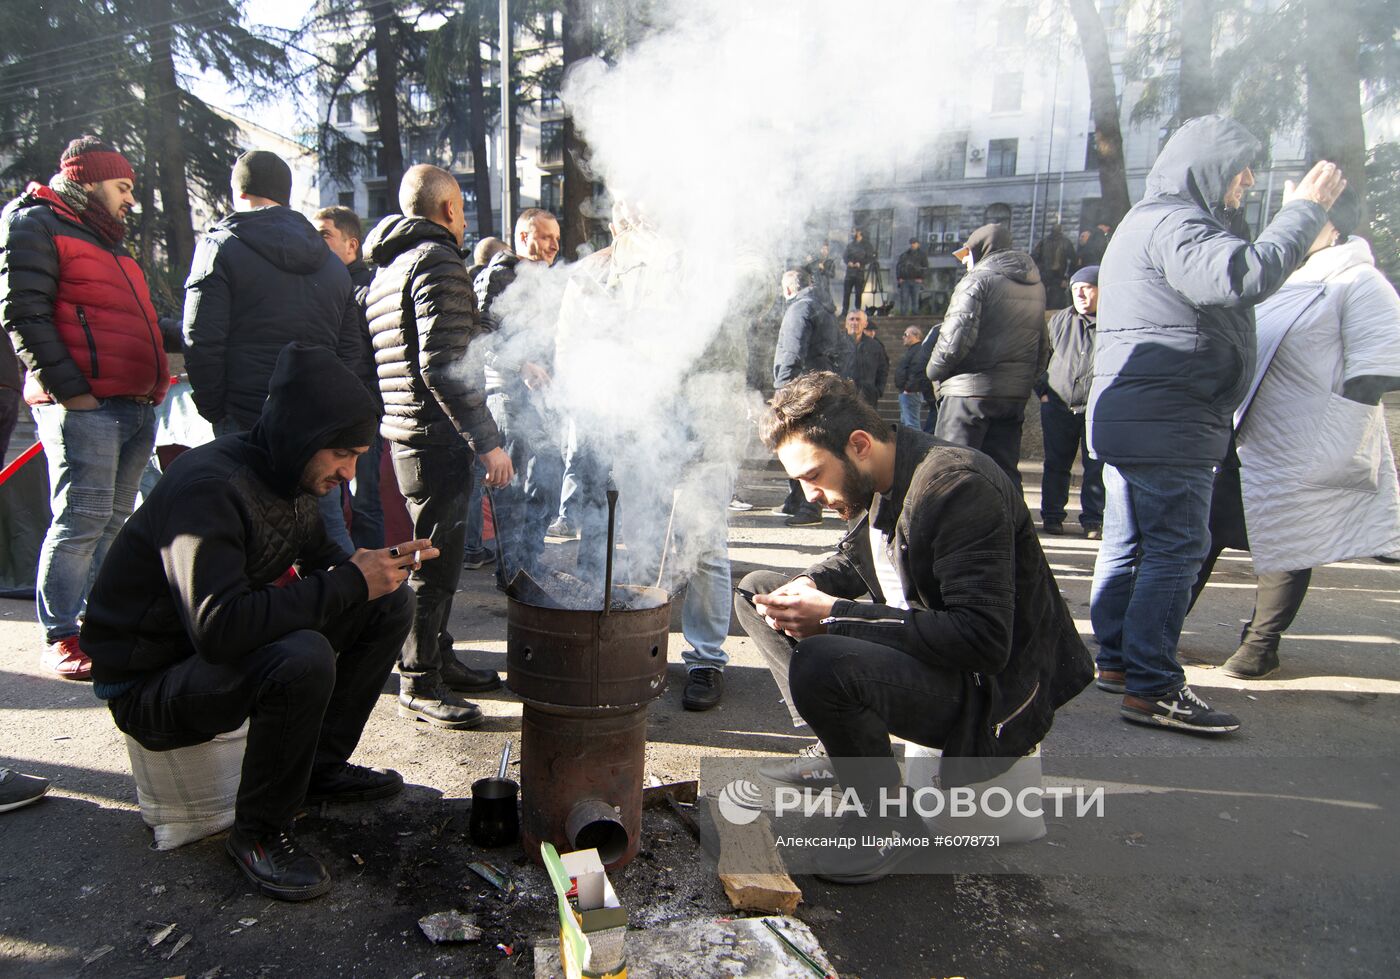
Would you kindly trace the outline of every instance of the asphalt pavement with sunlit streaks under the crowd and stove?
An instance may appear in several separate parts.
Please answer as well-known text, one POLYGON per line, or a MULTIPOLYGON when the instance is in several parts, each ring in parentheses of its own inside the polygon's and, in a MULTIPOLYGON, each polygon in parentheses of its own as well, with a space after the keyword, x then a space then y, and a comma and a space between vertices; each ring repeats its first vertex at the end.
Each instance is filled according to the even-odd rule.
MULTIPOLYGON (((1035 507, 1037 466, 1023 471, 1035 507)), ((731 514, 735 580, 760 567, 797 571, 837 539, 841 528, 830 514, 818 528, 787 528, 767 511, 784 490, 771 468, 743 472, 739 494, 760 508, 731 514)), ((1096 543, 1074 529, 1043 543, 1092 640, 1096 543)), ((1046 758, 1238 759, 1242 773, 1291 759, 1361 759, 1378 777, 1394 776, 1400 567, 1361 560, 1319 571, 1285 639, 1282 669, 1243 682, 1215 667, 1233 651, 1250 612, 1249 567, 1246 555, 1226 552, 1182 637, 1189 681, 1240 716, 1238 734, 1203 740, 1134 727, 1120 720, 1116 697, 1091 688, 1057 716, 1046 758)), ((463 574, 452 632, 470 665, 504 669, 505 601, 490 569, 463 574)), ((687 713, 679 703, 683 639, 675 616, 669 689, 651 710, 648 775, 693 779, 707 756, 785 754, 806 742, 738 633, 732 626, 722 706, 687 713)), ((119 732, 87 685, 39 668, 39 648, 32 605, 0 601, 0 765, 53 779, 46 800, 0 815, 4 975, 533 975, 529 943, 552 931, 543 877, 518 853, 483 854, 466 842, 470 783, 494 770, 507 738, 518 744, 521 707, 510 693, 480 699, 483 728, 438 731, 396 716, 391 678, 354 761, 396 768, 410 787, 384 804, 309 814, 300 832, 326 859, 336 887, 326 898, 286 905, 255 895, 218 839, 169 853, 148 849, 119 732), (466 864, 479 859, 505 867, 519 882, 517 894, 504 898, 475 877, 466 864), (416 922, 445 909, 477 913, 483 940, 428 944, 416 922), (167 924, 175 927, 161 937, 167 924)), ((1345 801, 1305 798, 1306 789, 1298 786, 1305 801, 1292 804, 1345 801)), ((1373 867, 1358 874, 1348 863, 1331 873, 1288 856, 1288 846, 1301 843, 1287 822, 1253 815, 1240 825, 1231 812, 1259 812, 1242 804, 1224 793, 1198 832, 1231 824, 1264 854, 1257 867, 1201 864, 1187 845, 1172 850, 1169 868, 1151 874, 1099 873, 1096 864, 1092 875, 1047 877, 1016 873, 1008 847, 1000 874, 897 875, 860 888, 799 877, 798 917, 848 976, 1400 975, 1396 836, 1344 840, 1373 853, 1373 867)), ((1180 829, 1187 839, 1196 832, 1180 829)), ((713 866, 669 815, 648 812, 644 833, 643 856, 615 875, 634 927, 728 913, 713 866)), ((1151 835, 1131 836, 1105 838, 1102 846, 1112 856, 1113 847, 1154 845, 1151 835)))

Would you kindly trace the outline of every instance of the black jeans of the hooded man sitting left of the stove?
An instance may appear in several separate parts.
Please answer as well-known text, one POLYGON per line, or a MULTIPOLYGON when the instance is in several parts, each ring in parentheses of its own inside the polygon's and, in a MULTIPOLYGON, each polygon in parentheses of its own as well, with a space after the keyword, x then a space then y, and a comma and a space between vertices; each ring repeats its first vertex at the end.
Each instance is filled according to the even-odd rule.
POLYGON ((412 619, 413 592, 399 588, 238 662, 192 655, 108 706, 150 751, 202 744, 251 718, 234 825, 276 832, 291 826, 312 772, 350 758, 412 619))

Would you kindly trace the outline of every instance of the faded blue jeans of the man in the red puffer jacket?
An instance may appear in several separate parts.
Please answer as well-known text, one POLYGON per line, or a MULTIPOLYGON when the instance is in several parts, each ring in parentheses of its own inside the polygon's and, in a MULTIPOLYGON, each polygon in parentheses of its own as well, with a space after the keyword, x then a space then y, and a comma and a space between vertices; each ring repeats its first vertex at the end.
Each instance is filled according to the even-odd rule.
POLYGON ((108 548, 136 507, 155 447, 155 412, 106 398, 90 412, 38 405, 53 518, 39 550, 36 606, 49 643, 78 634, 78 613, 108 548))

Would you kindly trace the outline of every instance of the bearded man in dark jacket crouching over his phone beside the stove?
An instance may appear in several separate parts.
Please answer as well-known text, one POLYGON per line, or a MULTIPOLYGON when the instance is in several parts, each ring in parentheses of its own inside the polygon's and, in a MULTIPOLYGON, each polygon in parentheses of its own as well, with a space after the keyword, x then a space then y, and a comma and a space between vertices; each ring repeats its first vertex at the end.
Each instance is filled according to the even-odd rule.
MULTIPOLYGON (((1019 487, 981 452, 892 433, 829 373, 780 391, 763 437, 808 499, 850 521, 801 576, 753 571, 739 585, 739 623, 794 725, 820 738, 763 773, 819 784, 834 766, 869 808, 900 782, 890 734, 941 748, 945 776, 990 776, 986 759, 1030 752, 1093 668, 1019 487)), ((888 866, 850 870, 858 882, 888 866)))

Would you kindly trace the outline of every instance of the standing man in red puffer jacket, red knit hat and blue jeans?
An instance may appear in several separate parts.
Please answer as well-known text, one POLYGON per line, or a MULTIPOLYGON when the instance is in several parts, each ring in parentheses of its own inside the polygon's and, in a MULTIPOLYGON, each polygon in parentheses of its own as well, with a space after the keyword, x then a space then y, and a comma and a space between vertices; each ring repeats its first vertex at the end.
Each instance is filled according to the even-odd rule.
POLYGON ((136 504, 153 409, 169 388, 150 289, 122 247, 134 185, 126 157, 83 136, 48 186, 31 183, 0 213, 0 324, 28 368, 52 487, 36 590, 43 664, 70 679, 90 678, 78 612, 136 504))

